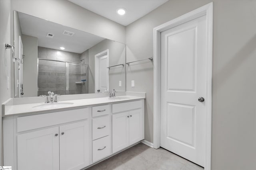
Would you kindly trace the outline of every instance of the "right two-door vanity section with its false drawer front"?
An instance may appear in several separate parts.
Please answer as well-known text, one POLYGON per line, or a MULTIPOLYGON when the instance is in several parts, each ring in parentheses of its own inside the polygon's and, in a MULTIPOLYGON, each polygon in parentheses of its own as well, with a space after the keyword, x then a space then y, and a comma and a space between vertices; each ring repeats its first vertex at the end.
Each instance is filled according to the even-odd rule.
POLYGON ((144 139, 144 100, 112 105, 112 151, 144 139))

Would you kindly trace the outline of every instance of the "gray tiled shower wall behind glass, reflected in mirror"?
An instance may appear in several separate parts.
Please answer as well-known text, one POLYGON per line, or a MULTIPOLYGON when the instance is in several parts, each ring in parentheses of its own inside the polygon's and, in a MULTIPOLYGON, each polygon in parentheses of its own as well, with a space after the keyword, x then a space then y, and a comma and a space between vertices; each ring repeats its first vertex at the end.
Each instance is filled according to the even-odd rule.
MULTIPOLYGON (((66 63, 80 63, 80 54, 38 47, 38 58, 57 61, 40 60, 38 62, 38 95, 66 94, 66 63), (63 62, 58 62, 63 61, 63 62)), ((87 84, 76 84, 86 79, 86 66, 69 64, 68 94, 86 93, 87 84)), ((86 80, 88 81, 88 80, 86 80)))

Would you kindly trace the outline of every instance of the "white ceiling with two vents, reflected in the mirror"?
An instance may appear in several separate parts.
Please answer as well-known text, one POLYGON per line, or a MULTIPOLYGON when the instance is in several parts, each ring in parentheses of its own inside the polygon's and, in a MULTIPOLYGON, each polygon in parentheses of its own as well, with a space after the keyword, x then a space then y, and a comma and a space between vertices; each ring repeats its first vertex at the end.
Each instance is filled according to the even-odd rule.
POLYGON ((36 18, 20 12, 18 12, 18 14, 22 34, 37 37, 38 46, 40 47, 56 50, 60 50, 60 47, 65 47, 63 51, 81 54, 90 47, 93 47, 100 41, 104 40, 102 37, 66 27, 58 23, 36 18), (65 30, 73 32, 74 35, 72 37, 63 35, 62 33, 65 30), (46 37, 47 33, 54 34, 54 37, 46 37))

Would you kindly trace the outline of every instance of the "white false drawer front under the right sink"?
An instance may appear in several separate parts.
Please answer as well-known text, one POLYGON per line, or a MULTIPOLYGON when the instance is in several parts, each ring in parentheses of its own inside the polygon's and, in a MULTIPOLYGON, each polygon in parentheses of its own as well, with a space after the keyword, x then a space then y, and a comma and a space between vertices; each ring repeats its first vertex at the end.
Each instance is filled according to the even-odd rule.
POLYGON ((132 110, 132 109, 139 109, 141 107, 142 107, 141 100, 134 101, 134 102, 112 104, 112 113, 117 113, 117 112, 132 110))

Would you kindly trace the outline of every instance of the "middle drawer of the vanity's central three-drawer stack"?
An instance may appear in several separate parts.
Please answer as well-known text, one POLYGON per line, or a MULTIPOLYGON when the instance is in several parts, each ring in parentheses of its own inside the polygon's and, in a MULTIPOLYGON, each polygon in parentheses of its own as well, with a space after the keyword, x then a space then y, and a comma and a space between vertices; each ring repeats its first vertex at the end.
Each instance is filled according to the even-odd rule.
POLYGON ((110 117, 98 117, 92 119, 92 140, 109 135, 110 117))

